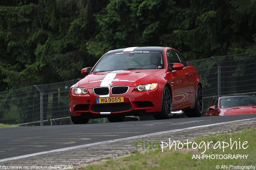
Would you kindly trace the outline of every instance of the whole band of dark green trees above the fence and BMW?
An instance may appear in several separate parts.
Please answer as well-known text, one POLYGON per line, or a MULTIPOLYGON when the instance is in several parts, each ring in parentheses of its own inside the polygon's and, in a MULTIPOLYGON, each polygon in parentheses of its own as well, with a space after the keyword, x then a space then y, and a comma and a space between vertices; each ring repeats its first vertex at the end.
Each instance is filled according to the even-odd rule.
POLYGON ((81 77, 108 50, 171 46, 188 60, 255 51, 254 0, 0 2, 0 91, 81 77))

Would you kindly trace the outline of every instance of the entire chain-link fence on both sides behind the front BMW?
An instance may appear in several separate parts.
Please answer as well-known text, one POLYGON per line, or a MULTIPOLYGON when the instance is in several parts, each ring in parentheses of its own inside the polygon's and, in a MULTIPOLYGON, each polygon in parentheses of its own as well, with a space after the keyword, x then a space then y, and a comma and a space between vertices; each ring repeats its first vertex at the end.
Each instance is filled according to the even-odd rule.
MULTIPOLYGON (((256 52, 190 63, 197 68, 203 82, 204 111, 215 95, 256 94, 256 52)), ((68 93, 77 81, 0 92, 0 123, 70 124, 68 93)))

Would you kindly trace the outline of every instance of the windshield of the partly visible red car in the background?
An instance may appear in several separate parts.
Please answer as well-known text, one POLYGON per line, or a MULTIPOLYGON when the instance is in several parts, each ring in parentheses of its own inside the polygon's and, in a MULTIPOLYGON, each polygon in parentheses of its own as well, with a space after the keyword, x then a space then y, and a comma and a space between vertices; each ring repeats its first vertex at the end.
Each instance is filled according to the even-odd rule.
POLYGON ((220 99, 220 108, 256 106, 256 97, 239 96, 220 99))

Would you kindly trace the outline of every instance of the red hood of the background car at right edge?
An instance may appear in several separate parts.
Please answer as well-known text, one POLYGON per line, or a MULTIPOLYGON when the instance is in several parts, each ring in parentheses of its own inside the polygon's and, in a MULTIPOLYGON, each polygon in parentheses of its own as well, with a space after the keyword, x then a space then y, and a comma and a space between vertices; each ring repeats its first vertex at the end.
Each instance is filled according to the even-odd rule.
POLYGON ((256 106, 241 106, 234 108, 220 109, 219 115, 241 115, 256 113, 256 106))

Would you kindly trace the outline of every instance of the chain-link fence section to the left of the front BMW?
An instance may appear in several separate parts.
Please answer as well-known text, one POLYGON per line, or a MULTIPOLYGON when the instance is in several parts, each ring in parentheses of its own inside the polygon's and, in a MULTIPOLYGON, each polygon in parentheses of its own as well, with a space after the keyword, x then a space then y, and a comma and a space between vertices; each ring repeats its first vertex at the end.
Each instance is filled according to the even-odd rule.
POLYGON ((0 123, 69 124, 69 88, 78 80, 0 92, 0 123))

